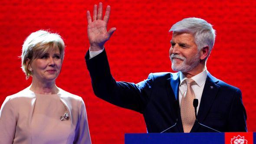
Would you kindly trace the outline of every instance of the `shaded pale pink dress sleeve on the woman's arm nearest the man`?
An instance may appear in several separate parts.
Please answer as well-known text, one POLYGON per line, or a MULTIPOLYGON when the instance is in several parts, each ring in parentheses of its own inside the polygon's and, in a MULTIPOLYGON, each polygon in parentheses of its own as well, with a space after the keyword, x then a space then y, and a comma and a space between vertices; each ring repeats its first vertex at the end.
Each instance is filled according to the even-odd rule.
POLYGON ((74 144, 92 144, 89 133, 89 125, 86 114, 85 103, 82 98, 79 101, 79 119, 75 128, 74 144))

